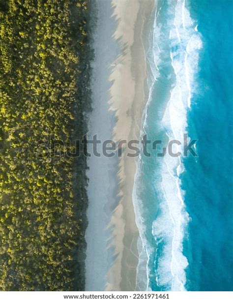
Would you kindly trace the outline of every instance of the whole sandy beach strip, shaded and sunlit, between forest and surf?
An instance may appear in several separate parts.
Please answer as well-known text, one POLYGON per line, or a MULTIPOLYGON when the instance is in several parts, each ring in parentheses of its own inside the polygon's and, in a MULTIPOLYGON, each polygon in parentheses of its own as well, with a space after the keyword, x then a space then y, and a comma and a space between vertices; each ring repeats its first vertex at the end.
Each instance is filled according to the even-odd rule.
MULTIPOLYGON (((97 134, 102 141, 116 142, 140 137, 147 101, 142 35, 153 4, 153 0, 95 2, 98 21, 88 137, 97 134)), ((101 145, 98 148, 101 152, 101 145)), ((137 290, 135 159, 123 151, 120 158, 91 156, 87 163, 86 290, 137 290)))

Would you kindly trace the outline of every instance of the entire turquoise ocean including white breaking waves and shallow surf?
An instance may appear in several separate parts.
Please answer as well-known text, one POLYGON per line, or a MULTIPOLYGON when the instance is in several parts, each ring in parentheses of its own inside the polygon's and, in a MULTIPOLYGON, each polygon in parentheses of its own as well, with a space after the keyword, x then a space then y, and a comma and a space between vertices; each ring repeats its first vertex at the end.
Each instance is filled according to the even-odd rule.
POLYGON ((232 0, 158 0, 151 12, 141 135, 161 144, 136 162, 139 290, 233 289, 232 16, 232 0))

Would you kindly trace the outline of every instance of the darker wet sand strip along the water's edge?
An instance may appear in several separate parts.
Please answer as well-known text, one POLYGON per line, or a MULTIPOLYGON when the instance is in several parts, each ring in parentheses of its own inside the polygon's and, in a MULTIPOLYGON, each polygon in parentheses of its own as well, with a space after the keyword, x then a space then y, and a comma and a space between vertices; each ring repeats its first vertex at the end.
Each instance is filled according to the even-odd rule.
MULTIPOLYGON (((132 1, 129 1, 129 4, 132 1)), ((146 57, 145 49, 142 41, 143 32, 145 30, 145 22, 148 21, 150 11, 154 5, 154 1, 138 1, 138 12, 133 27, 133 43, 129 47, 130 62, 125 68, 130 69, 130 76, 132 78, 132 97, 128 103, 129 116, 128 116, 128 135, 123 139, 140 140, 140 131, 142 127, 142 118, 144 114, 145 105, 148 99, 148 90, 146 84, 146 57)), ((131 8, 131 7, 130 7, 131 8)), ((117 89, 117 88, 116 88, 117 89)), ((124 91, 127 94, 127 91, 124 91)), ((123 95, 122 95, 123 96, 123 95)), ((119 124, 116 124, 115 129, 117 132, 121 132, 121 120, 119 124)), ((122 246, 122 259, 121 259, 121 281, 118 285, 121 291, 135 291, 137 288, 137 267, 139 261, 138 254, 138 240, 139 229, 136 224, 135 208, 133 204, 133 187, 136 173, 136 161, 135 158, 125 156, 123 153, 122 165, 119 168, 121 178, 120 193, 122 194, 121 204, 122 208, 119 208, 119 212, 122 211, 122 220, 125 228, 123 233, 123 246, 122 246)), ((120 163, 121 163, 120 162, 120 163)), ((117 212, 116 212, 117 214, 117 212)), ((119 216, 119 214, 118 214, 119 216)), ((119 227, 120 219, 117 219, 116 232, 119 227)), ((116 233, 116 235, 122 235, 116 233)), ((117 268, 117 267, 116 267, 117 268)), ((116 272, 113 269, 114 273, 116 272)))

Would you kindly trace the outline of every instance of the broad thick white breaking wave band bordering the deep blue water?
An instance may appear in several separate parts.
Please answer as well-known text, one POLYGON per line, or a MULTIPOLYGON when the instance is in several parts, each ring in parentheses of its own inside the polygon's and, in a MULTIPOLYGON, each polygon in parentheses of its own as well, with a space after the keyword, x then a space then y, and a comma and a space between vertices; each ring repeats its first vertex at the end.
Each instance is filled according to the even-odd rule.
MULTIPOLYGON (((174 23, 170 30, 170 57, 176 82, 162 120, 169 140, 179 141, 183 141, 187 127, 187 110, 191 107, 194 77, 202 47, 197 26, 185 4, 185 0, 177 0, 174 23)), ((180 148, 177 146, 176 151, 181 151, 180 148)), ((173 291, 185 290, 185 268, 188 266, 187 258, 183 255, 183 240, 189 217, 180 188, 179 175, 182 171, 180 157, 165 156, 161 167, 159 214, 153 223, 155 240, 158 245, 162 245, 156 281, 158 286, 173 291)))

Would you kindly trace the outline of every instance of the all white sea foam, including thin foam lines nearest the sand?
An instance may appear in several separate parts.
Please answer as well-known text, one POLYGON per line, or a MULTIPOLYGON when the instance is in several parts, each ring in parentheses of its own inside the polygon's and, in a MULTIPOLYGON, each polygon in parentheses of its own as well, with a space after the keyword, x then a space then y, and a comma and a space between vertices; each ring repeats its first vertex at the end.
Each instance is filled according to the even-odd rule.
MULTIPOLYGON (((150 76, 147 80, 150 90, 142 133, 146 132, 149 103, 154 101, 152 87, 162 75, 161 70, 164 66, 170 64, 174 70, 175 81, 163 118, 157 126, 166 133, 169 140, 176 139, 182 142, 187 127, 187 112, 191 108, 192 93, 195 90, 195 76, 198 72, 199 50, 202 48, 202 40, 196 22, 190 17, 185 0, 177 0, 175 6, 173 0, 160 1, 160 4, 160 8, 157 8, 156 4, 154 7, 154 24, 150 32, 150 45, 146 53, 150 69, 150 76), (158 22, 160 10, 161 8, 164 9, 164 5, 166 5, 167 15, 166 20, 163 18, 162 22, 166 22, 169 33, 167 35, 162 30, 164 24, 161 24, 161 19, 158 22)), ((176 151, 182 152, 181 147, 177 145, 176 151)), ((188 261, 183 255, 183 240, 189 216, 185 210, 184 195, 180 188, 179 175, 184 168, 182 157, 166 155, 155 171, 154 185, 158 199, 158 214, 153 224, 147 226, 146 221, 143 220, 143 218, 145 219, 143 200, 140 200, 139 193, 137 193, 140 190, 140 176, 143 177, 140 164, 142 164, 142 157, 139 157, 137 162, 133 199, 142 242, 139 266, 142 267, 142 261, 146 265, 147 279, 144 281, 144 289, 151 289, 149 278, 152 276, 156 278, 157 286, 161 290, 185 290, 185 269, 188 266, 188 261), (158 174, 162 181, 157 181, 158 174), (151 243, 146 241, 146 227, 151 227, 152 235, 156 241, 155 249, 151 247, 151 243), (155 257, 155 271, 153 273, 149 267, 150 257, 155 257)), ((140 269, 142 270, 142 268, 140 269)), ((138 273, 140 273, 140 269, 138 273)), ((142 279, 140 281, 143 282, 142 279)))

